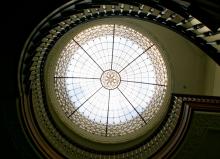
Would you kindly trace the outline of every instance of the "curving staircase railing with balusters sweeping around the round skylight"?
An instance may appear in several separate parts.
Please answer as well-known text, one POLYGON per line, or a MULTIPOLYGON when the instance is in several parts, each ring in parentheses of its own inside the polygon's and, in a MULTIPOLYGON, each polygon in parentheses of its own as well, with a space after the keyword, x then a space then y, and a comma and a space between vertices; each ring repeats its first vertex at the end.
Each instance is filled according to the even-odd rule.
MULTIPOLYGON (((81 23, 114 16, 150 21, 172 29, 186 37, 220 64, 219 30, 211 30, 190 15, 184 7, 179 8, 181 9, 170 10, 159 1, 78 0, 71 1, 55 10, 36 27, 24 46, 20 60, 21 107, 19 111, 24 118, 23 124, 27 127, 29 137, 41 150, 41 153, 43 152, 43 156, 52 158, 68 156, 77 159, 140 159, 158 157, 158 155, 166 156, 172 152, 171 149, 175 147, 175 143, 178 143, 179 137, 185 131, 189 120, 189 115, 185 114, 189 114, 189 111, 194 110, 194 107, 189 107, 185 103, 213 104, 216 107, 211 106, 211 108, 219 111, 219 98, 173 94, 167 116, 157 131, 136 147, 117 153, 97 152, 80 147, 80 145, 63 135, 51 119, 44 88, 43 70, 45 61, 56 41, 67 31, 81 23)), ((203 109, 201 107, 203 105, 198 104, 197 108, 203 109)), ((205 109, 208 109, 208 107, 205 107, 205 109)))

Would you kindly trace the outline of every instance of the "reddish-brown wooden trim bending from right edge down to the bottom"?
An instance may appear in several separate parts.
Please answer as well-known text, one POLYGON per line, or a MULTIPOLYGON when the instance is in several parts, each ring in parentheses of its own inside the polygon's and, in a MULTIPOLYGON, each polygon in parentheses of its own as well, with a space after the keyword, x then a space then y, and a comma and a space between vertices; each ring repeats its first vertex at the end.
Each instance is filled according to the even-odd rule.
POLYGON ((177 96, 183 98, 187 97, 189 99, 193 99, 194 101, 183 99, 182 111, 176 129, 174 130, 168 142, 156 154, 154 154, 151 157, 152 159, 171 158, 173 153, 178 149, 178 147, 184 140, 184 137, 186 136, 186 133, 190 125, 190 121, 192 119, 192 114, 195 111, 220 113, 220 97, 179 94, 177 96))

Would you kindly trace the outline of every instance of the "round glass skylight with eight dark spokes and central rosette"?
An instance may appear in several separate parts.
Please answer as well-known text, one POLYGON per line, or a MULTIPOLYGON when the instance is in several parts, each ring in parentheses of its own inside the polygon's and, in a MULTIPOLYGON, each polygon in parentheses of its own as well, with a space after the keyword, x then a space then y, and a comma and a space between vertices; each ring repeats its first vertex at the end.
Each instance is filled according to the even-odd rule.
POLYGON ((147 125, 163 104, 167 70, 157 46, 132 28, 98 25, 66 45, 54 75, 65 115, 101 136, 147 125))

